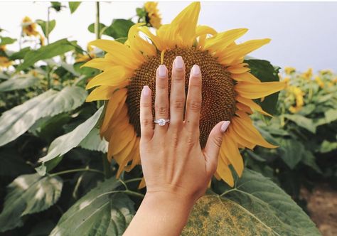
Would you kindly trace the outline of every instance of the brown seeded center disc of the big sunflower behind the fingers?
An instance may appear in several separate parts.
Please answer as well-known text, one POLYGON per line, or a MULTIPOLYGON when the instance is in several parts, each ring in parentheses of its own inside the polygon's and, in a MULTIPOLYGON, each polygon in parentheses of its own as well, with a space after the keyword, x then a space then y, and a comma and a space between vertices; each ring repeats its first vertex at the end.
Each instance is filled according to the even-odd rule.
MULTIPOLYGON (((186 66, 186 96, 188 78, 194 64, 200 66, 203 76, 203 102, 200 113, 200 145, 203 148, 208 139, 208 134, 210 134, 215 124, 230 120, 235 113, 234 82, 224 66, 218 63, 208 52, 203 52, 196 48, 176 48, 166 51, 164 55, 164 65, 169 70, 169 87, 171 87, 172 63, 178 55, 183 57, 186 66)), ((144 85, 148 85, 152 90, 152 114, 154 116, 156 69, 160 63, 160 54, 149 58, 146 63, 135 71, 132 82, 128 86, 127 106, 130 123, 134 126, 138 136, 140 136, 139 102, 141 90, 144 85)))

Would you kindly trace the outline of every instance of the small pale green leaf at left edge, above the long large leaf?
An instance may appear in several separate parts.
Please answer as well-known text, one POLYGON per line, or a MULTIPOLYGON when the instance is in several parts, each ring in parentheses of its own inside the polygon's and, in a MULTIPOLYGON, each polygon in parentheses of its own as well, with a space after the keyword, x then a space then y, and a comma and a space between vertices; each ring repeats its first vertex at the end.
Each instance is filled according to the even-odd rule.
POLYGON ((38 84, 38 81, 38 78, 33 75, 14 76, 9 80, 0 83, 0 92, 22 90, 27 87, 33 87, 38 84))

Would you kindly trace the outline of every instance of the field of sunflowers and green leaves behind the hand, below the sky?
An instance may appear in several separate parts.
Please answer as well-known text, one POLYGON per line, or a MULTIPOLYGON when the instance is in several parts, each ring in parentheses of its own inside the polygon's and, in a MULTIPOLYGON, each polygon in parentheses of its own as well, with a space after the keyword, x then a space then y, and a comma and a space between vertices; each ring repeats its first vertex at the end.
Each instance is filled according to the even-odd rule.
MULTIPOLYGON (((79 7, 51 2, 46 11, 79 7)), ((106 26, 97 2, 85 48, 50 41, 49 17, 24 17, 19 38, 0 29, 1 235, 123 234, 146 193, 141 88, 154 90, 156 68, 171 70, 176 55, 203 73, 200 145, 232 121, 182 235, 321 235, 304 192, 337 187, 337 75, 252 58, 269 39, 237 44, 247 29, 198 26, 199 11, 192 3, 162 24, 146 2, 106 26)))

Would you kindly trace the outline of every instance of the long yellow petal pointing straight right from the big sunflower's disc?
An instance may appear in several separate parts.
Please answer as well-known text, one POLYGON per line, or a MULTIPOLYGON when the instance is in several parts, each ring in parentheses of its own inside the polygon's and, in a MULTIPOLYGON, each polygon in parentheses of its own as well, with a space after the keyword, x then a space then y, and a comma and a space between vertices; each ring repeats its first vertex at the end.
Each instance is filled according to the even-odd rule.
POLYGON ((234 86, 234 90, 240 97, 256 99, 266 97, 274 92, 283 90, 284 82, 244 82, 240 81, 234 86))

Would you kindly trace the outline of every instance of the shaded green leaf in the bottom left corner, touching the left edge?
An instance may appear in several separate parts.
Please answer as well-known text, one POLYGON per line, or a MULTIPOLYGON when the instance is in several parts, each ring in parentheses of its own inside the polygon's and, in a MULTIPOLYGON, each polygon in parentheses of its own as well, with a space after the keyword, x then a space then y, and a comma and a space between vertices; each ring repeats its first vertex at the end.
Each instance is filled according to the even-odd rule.
POLYGON ((23 225, 23 215, 41 212, 55 204, 62 186, 62 179, 56 176, 41 177, 34 173, 16 178, 8 186, 0 215, 0 232, 23 225))

